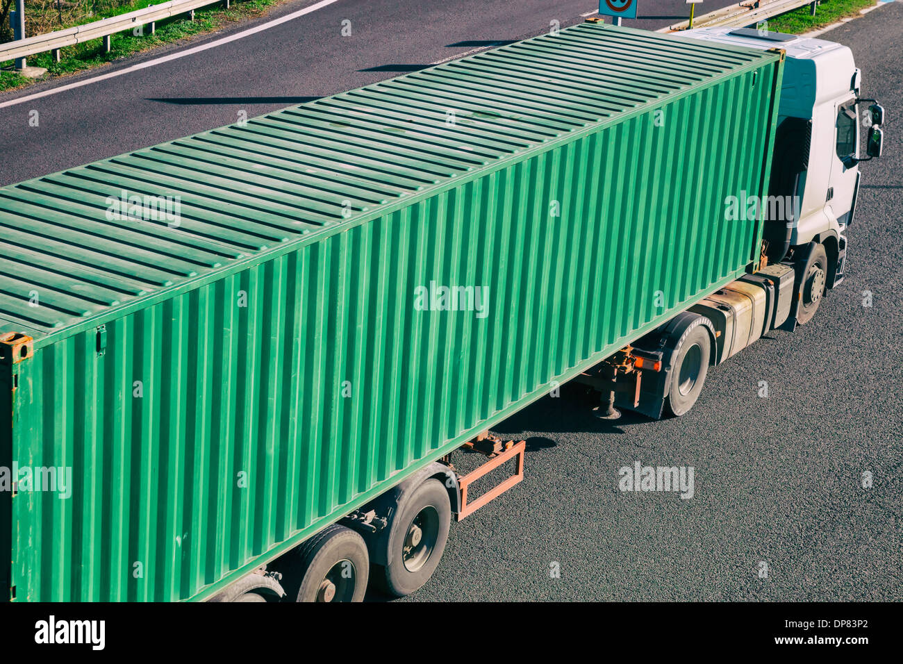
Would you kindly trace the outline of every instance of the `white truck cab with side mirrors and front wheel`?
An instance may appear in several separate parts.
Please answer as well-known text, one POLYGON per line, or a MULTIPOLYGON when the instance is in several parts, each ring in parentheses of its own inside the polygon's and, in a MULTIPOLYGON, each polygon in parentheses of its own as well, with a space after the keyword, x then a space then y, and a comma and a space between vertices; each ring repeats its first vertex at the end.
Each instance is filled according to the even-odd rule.
POLYGON ((783 215, 765 206, 764 238, 769 262, 792 262, 799 271, 802 297, 814 298, 808 303, 814 314, 824 291, 842 280, 859 164, 880 156, 884 109, 877 103, 862 108, 862 102, 875 100, 859 97, 861 73, 842 44, 758 28, 702 28, 675 36, 785 51, 768 199, 791 204, 777 208, 787 210, 783 215), (869 127, 868 156, 862 159, 860 122, 869 127))

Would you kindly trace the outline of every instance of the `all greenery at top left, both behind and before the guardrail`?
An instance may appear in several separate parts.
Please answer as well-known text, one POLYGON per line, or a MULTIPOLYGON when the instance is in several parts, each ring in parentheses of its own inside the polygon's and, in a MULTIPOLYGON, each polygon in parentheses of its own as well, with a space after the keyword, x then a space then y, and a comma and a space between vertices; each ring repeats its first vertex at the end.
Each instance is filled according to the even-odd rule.
MULTIPOLYGON (((65 20, 62 23, 52 23, 49 25, 48 29, 39 32, 32 32, 31 29, 26 27, 26 33, 31 35, 61 30, 70 27, 71 25, 97 21, 100 18, 106 18, 107 16, 134 12, 135 9, 159 4, 160 1, 161 0, 135 0, 135 2, 124 3, 122 0, 93 0, 92 2, 82 0, 81 4, 92 5, 94 7, 93 14, 89 14, 85 11, 76 13, 73 10, 73 14, 70 16, 70 23, 65 23, 65 20), (104 9, 103 13, 100 12, 100 8, 104 9)), ((284 0, 240 0, 240 2, 233 2, 228 10, 225 9, 223 5, 209 5, 209 7, 204 7, 195 11, 194 21, 191 21, 186 14, 184 16, 173 17, 164 22, 158 22, 154 34, 150 34, 150 26, 145 27, 144 35, 135 35, 131 32, 114 34, 110 38, 110 52, 108 53, 104 51, 103 40, 97 39, 63 49, 61 51, 61 60, 59 62, 53 61, 51 53, 40 53, 29 57, 28 64, 34 67, 46 68, 46 76, 48 77, 65 76, 76 71, 98 67, 99 65, 116 61, 119 58, 124 58, 140 51, 153 49, 155 46, 160 46, 164 43, 190 39, 197 34, 218 30, 219 28, 228 25, 228 23, 234 23, 245 18, 264 14, 269 7, 283 1, 284 0)), ((6 0, 0 0, 0 10, 2 10, 5 2, 6 0)), ((35 4, 40 5, 42 3, 35 4)), ((58 14, 55 14, 56 5, 53 4, 51 0, 44 0, 43 4, 51 8, 52 12, 54 12, 54 16, 58 18, 58 14)), ((29 5, 31 4, 26 3, 26 15, 28 14, 29 5)), ((2 14, 2 11, 0 11, 0 14, 2 14)), ((66 14, 64 14, 64 19, 65 18, 66 14)), ((34 82, 33 79, 28 79, 17 74, 12 68, 12 61, 0 62, 0 92, 21 88, 34 82)))

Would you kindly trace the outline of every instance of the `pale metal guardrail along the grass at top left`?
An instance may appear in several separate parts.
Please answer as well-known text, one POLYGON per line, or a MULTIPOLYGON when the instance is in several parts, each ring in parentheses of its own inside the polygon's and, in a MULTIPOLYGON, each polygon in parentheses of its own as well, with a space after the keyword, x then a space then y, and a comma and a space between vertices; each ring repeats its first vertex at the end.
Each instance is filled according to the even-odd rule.
MULTIPOLYGON (((206 5, 216 5, 221 2, 225 2, 228 7, 229 0, 169 0, 160 5, 151 5, 128 14, 110 16, 94 23, 76 25, 65 30, 58 30, 55 33, 36 34, 33 37, 20 39, 17 42, 6 42, 0 44, 0 62, 24 58, 47 51, 59 51, 65 46, 74 46, 77 43, 88 42, 88 40, 101 37, 108 38, 111 34, 124 33, 139 26, 153 26, 155 22, 171 16, 191 14, 195 9, 200 9, 200 7, 206 5)), ((153 33, 153 30, 151 32, 153 33)), ((108 39, 105 46, 108 51, 108 39)))

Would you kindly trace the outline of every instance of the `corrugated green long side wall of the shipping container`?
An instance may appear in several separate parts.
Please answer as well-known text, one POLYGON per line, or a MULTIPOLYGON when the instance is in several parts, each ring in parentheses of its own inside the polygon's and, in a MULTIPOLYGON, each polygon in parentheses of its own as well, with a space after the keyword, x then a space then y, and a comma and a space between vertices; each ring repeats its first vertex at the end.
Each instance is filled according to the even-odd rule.
POLYGON ((740 276, 759 224, 723 199, 765 193, 779 71, 35 351, 12 455, 73 477, 13 499, 17 598, 206 596, 740 276), (417 311, 433 281, 488 315, 417 311))

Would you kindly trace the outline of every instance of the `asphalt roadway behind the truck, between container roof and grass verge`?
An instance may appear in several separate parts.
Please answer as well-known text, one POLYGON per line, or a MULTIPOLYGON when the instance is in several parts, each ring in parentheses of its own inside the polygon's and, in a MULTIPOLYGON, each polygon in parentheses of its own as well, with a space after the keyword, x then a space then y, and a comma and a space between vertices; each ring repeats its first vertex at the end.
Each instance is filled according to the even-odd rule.
MULTIPOLYGON (((736 0, 706 0, 705 10, 736 0)), ((638 0, 639 21, 656 29, 683 20, 684 0, 638 0)), ((265 17, 191 47, 266 23, 313 0, 279 5, 265 17)), ((535 36, 552 21, 580 23, 598 0, 340 0, 234 42, 49 97, 0 108, 0 186, 147 145, 188 136, 389 79, 487 44, 535 36), (343 21, 351 33, 342 36, 343 21), (32 111, 39 125, 30 126, 32 111)), ((698 8, 698 7, 697 7, 698 8)), ((79 76, 0 95, 0 103, 97 78, 185 50, 174 44, 79 76)))

